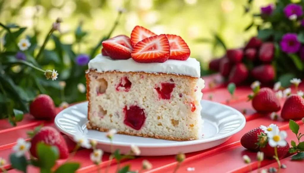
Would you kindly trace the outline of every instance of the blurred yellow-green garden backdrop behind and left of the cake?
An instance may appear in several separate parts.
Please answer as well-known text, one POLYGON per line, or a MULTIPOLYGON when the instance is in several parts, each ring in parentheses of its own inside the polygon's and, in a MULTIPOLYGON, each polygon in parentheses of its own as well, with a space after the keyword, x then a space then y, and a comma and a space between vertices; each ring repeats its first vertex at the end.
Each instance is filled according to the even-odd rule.
POLYGON ((119 10, 124 9, 111 36, 129 36, 136 25, 156 34, 180 35, 191 50, 191 57, 202 62, 204 75, 210 59, 225 53, 216 38, 220 38, 227 48, 243 46, 257 33, 254 27, 244 31, 252 22, 252 14, 259 13, 261 6, 271 2, 275 1, 0 0, 0 22, 16 36, 16 43, 22 38, 31 42, 25 52, 26 61, 43 70, 55 69, 59 74, 57 80, 52 81, 45 79, 42 72, 29 69, 18 62, 11 62, 13 66, 5 66, 5 63, 18 57, 16 46, 10 40, 12 37, 2 27, 0 58, 7 62, 3 66, 0 64, 0 84, 4 85, 0 96, 7 99, 0 99, 0 107, 2 110, 8 109, 7 112, 11 112, 9 110, 12 108, 26 111, 28 102, 41 93, 50 95, 56 105, 63 101, 72 103, 85 100, 87 65, 82 66, 75 58, 81 54, 94 58, 100 52, 101 47, 96 45, 109 34, 119 10), (252 10, 245 14, 248 1, 252 2, 252 10), (58 17, 63 21, 60 23, 60 32, 51 33, 45 50, 37 58, 39 48, 58 17), (15 100, 16 97, 18 101, 15 100))

